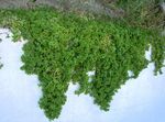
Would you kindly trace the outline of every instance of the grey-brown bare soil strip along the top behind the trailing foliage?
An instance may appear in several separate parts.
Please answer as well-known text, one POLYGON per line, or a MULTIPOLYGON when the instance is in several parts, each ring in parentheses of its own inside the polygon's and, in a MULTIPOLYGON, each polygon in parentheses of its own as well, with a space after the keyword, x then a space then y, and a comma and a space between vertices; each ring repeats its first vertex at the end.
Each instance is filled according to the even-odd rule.
POLYGON ((99 0, 0 0, 0 9, 2 8, 33 8, 40 4, 47 4, 66 11, 82 11, 95 14, 103 14, 110 18, 120 18, 123 11, 117 8, 106 7, 99 0))

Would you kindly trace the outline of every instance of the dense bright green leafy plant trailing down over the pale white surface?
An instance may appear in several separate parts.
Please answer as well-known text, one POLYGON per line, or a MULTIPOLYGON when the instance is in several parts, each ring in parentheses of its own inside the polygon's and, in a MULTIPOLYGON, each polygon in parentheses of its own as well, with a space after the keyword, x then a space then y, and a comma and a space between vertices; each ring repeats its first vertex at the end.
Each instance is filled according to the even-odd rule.
POLYGON ((59 117, 70 81, 79 84, 76 93, 90 95, 108 111, 113 95, 128 79, 136 78, 151 62, 155 74, 163 67, 165 41, 147 30, 44 8, 0 10, 0 16, 14 41, 28 40, 21 69, 38 76, 43 91, 38 103, 50 120, 59 117), (148 45, 152 60, 145 58, 148 45), (90 82, 89 70, 95 70, 90 82))

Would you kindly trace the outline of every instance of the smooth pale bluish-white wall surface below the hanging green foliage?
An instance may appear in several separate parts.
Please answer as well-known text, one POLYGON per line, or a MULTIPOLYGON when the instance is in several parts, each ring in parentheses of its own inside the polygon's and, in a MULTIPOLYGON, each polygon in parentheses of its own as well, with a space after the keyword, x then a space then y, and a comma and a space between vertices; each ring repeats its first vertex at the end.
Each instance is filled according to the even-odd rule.
MULTIPOLYGON (((9 30, 0 30, 0 122, 48 122, 37 101, 41 89, 36 76, 28 76, 22 66, 22 42, 12 43, 9 30)), ((147 56, 150 58, 150 56, 147 56)), ((74 95, 70 85, 67 102, 58 120, 54 122, 164 122, 164 74, 153 76, 153 65, 144 69, 138 79, 129 80, 113 97, 111 110, 102 112, 88 96, 74 95)))

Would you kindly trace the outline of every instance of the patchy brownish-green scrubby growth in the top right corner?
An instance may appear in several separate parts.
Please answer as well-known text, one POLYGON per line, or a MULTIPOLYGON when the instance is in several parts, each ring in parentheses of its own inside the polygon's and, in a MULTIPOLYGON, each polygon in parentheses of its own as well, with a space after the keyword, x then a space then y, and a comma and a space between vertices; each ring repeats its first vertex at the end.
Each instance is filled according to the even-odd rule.
POLYGON ((116 4, 124 10, 127 23, 160 31, 164 26, 161 3, 162 0, 118 0, 116 4))

